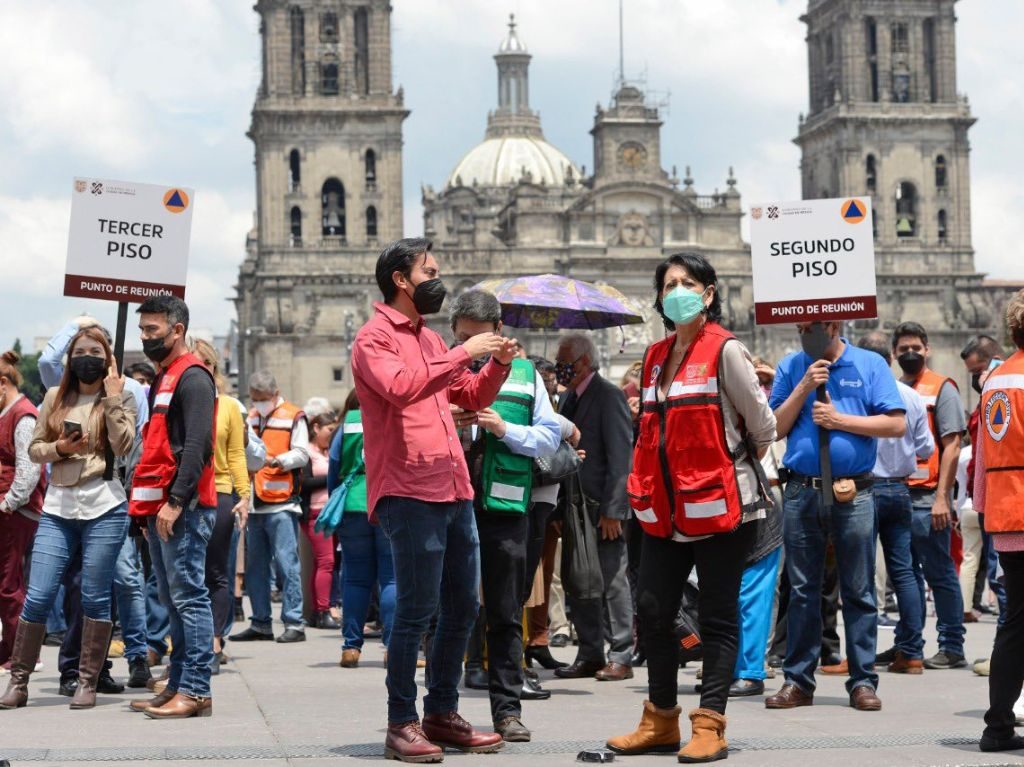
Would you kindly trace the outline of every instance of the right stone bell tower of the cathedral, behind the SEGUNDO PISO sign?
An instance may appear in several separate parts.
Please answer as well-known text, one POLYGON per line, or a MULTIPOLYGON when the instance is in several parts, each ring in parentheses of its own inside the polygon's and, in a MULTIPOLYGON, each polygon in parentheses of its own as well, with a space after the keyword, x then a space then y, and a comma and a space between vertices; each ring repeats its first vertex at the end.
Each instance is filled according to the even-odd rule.
POLYGON ((955 0, 810 0, 805 199, 868 195, 881 319, 922 323, 936 370, 963 379, 975 333, 999 337, 971 245, 968 130, 956 91, 955 0))

